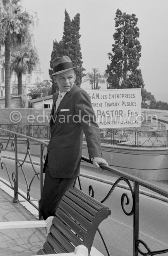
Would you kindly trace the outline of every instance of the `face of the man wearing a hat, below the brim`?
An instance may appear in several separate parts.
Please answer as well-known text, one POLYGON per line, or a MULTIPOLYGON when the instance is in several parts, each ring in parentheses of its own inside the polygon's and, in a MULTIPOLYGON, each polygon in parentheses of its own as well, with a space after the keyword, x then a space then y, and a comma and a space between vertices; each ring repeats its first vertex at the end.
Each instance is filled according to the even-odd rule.
POLYGON ((76 79, 75 71, 73 69, 66 72, 57 74, 53 77, 54 82, 58 84, 60 92, 69 92, 74 84, 76 79))

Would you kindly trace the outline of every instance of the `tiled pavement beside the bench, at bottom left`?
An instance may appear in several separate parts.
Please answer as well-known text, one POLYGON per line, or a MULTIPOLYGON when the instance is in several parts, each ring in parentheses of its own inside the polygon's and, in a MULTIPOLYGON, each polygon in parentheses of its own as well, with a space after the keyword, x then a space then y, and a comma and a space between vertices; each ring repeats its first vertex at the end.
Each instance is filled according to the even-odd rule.
MULTIPOLYGON (((20 203, 0 189, 0 221, 37 220, 20 203)), ((45 228, 18 228, 0 230, 0 255, 35 255, 46 241, 45 228)))

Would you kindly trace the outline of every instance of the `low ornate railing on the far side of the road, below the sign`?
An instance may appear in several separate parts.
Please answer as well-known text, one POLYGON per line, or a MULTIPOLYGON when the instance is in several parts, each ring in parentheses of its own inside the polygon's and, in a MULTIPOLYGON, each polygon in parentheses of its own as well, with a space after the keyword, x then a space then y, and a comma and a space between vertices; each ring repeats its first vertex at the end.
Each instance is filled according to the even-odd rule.
MULTIPOLYGON (((39 139, 50 139, 49 125, 0 124, 0 128, 39 139)), ((0 137, 8 136, 0 131, 0 137)), ((137 131, 100 129, 101 143, 132 147, 167 147, 168 130, 137 131)), ((85 137, 83 138, 85 141, 85 137)))

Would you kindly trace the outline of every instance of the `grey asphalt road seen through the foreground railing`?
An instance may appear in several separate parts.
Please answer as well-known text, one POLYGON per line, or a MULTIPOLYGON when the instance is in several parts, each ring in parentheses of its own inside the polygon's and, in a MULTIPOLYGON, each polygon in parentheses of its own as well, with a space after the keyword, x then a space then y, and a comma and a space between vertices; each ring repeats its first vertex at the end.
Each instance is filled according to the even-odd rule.
MULTIPOLYGON (((2 160, 8 167, 9 176, 11 177, 14 170, 14 161, 10 159, 2 160)), ((33 177, 31 165, 25 163, 23 169, 29 184, 33 177)), ((35 165, 35 169, 37 172, 40 170, 37 165, 35 165)), ((0 177, 9 181, 5 168, 3 170, 0 169, 0 177)), ((101 183, 85 177, 82 177, 81 181, 83 190, 87 194, 89 185, 93 186, 95 198, 99 201, 105 197, 111 188, 110 184, 101 183)), ((19 188, 27 193, 24 175, 20 168, 19 188)), ((110 198, 104 203, 111 209, 111 215, 100 224, 100 230, 113 256, 133 255, 133 216, 126 216, 122 211, 121 196, 123 193, 127 193, 130 196, 130 205, 126 206, 126 209, 128 211, 131 209, 132 197, 129 190, 116 187, 110 198)), ((35 199, 40 198, 40 183, 36 177, 32 183, 31 196, 35 199)), ((139 208, 139 238, 146 242, 151 250, 163 250, 168 248, 168 203, 140 194, 139 208)), ((102 254, 107 255, 99 234, 96 235, 93 245, 102 254)), ((144 248, 142 248, 142 250, 144 252, 146 251, 144 248)), ((168 253, 159 255, 168 255, 168 253)))

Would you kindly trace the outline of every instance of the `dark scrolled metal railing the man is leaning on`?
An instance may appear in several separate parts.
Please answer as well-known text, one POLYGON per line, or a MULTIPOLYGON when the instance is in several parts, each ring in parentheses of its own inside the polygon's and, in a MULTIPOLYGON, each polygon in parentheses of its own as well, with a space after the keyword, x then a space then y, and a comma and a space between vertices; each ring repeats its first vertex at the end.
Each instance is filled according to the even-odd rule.
MULTIPOLYGON (((9 183, 5 182, 3 179, 0 178, 0 181, 5 183, 7 186, 9 186, 13 191, 14 191, 14 198, 13 201, 17 202, 18 201, 18 195, 22 196, 26 201, 28 201, 31 205, 33 205, 36 209, 38 209, 38 207, 31 201, 31 185, 34 181, 35 178, 37 178, 39 180, 39 186, 40 186, 40 194, 42 195, 42 190, 43 190, 43 163, 44 163, 44 159, 45 159, 45 149, 47 148, 48 143, 45 141, 41 141, 32 137, 28 137, 26 135, 22 135, 22 134, 18 134, 16 132, 12 132, 9 130, 4 130, 2 128, 0 128, 0 131, 5 133, 5 134, 9 134, 9 137, 5 143, 5 146, 3 145, 3 143, 0 141, 0 164, 1 164, 1 169, 5 169, 7 174, 8 174, 8 178, 9 178, 9 183), (17 152, 17 139, 18 137, 23 137, 24 139, 26 139, 26 152, 25 152, 25 156, 23 160, 18 159, 18 152, 17 152), (31 141, 35 141, 36 144, 39 143, 40 146, 40 172, 36 171, 36 167, 33 163, 32 160, 32 156, 31 156, 31 150, 30 150, 30 143, 31 141), (13 152, 15 152, 15 170, 12 172, 12 175, 10 176, 9 170, 8 170, 8 166, 7 164, 5 164, 4 160, 2 160, 2 153, 5 152, 5 150, 8 149, 8 147, 11 146, 11 149, 13 152), (31 179, 28 182, 27 179, 27 173, 24 171, 24 165, 26 162, 27 157, 29 157, 30 160, 30 164, 32 167, 32 176, 31 179), (24 194, 21 194, 21 192, 19 191, 18 188, 18 178, 19 178, 19 172, 18 170, 21 170, 21 173, 24 175, 24 179, 25 179, 25 183, 27 186, 27 197, 24 196, 24 194)), ((92 162, 82 156, 81 158, 83 161, 92 164, 92 162)), ((122 181, 124 181, 127 185, 128 188, 131 192, 131 200, 128 196, 127 193, 123 193, 122 197, 121 197, 121 206, 122 206, 122 210, 123 212, 127 215, 127 216, 132 216, 133 215, 133 253, 132 255, 134 256, 138 256, 138 253, 140 255, 157 255, 157 254, 164 254, 168 252, 168 249, 163 249, 163 250, 158 250, 158 251, 152 251, 149 249, 148 245, 146 242, 142 241, 141 239, 139 239, 139 186, 142 186, 144 188, 147 188, 149 190, 152 190, 166 198, 168 198, 168 191, 165 189, 161 189, 158 186, 153 185, 152 183, 149 183, 147 181, 144 181, 142 179, 136 178, 133 175, 127 174, 123 171, 119 171, 115 168, 111 168, 105 165, 101 165, 102 168, 104 168, 105 170, 107 170, 108 172, 111 172, 115 175, 118 175, 119 178, 116 180, 116 182, 114 183, 114 185, 111 186, 111 189, 109 190, 108 194, 105 196, 105 198, 101 201, 102 203, 104 203, 105 201, 107 201, 107 199, 111 196, 111 194, 113 193, 113 191, 115 190, 116 186, 122 181), (131 185, 133 184, 133 186, 131 185), (130 203, 131 201, 131 203, 130 203), (130 210, 126 209, 126 205, 131 205, 130 210), (141 247, 144 247, 146 249, 147 252, 143 252, 141 247)), ((29 168, 30 169, 30 168, 29 168)), ((0 175, 1 177, 1 175, 0 175)), ((78 177, 79 180, 79 187, 82 189, 81 186, 81 181, 80 181, 80 177, 78 177)), ((89 186, 89 194, 91 196, 94 196, 94 190, 92 186, 89 186)), ((111 209, 112 211, 112 209, 111 209)), ((103 235, 100 233, 100 230, 98 230, 100 237, 103 240, 103 243, 105 245, 105 248, 107 250, 107 254, 110 256, 110 251, 104 241, 103 235)))

